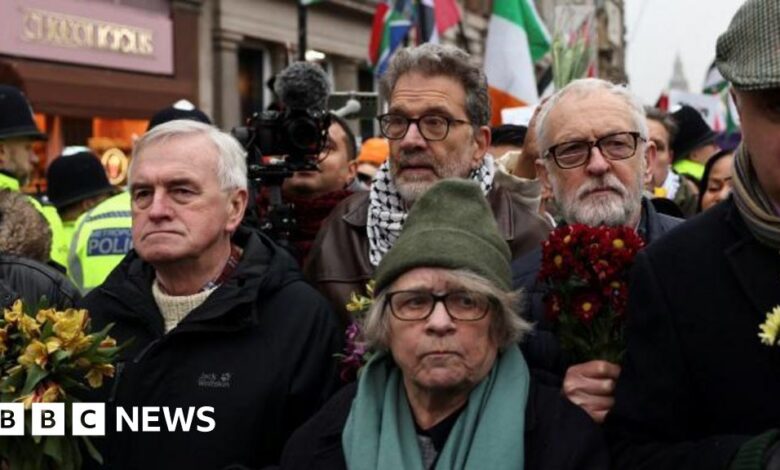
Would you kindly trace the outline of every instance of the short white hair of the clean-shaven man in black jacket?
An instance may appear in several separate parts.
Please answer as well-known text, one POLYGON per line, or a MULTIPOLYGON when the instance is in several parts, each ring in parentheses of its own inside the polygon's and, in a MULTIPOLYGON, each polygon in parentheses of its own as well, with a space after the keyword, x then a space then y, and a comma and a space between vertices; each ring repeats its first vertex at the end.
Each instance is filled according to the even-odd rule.
MULTIPOLYGON (((133 146, 133 159, 128 171, 128 183, 132 186, 133 165, 144 149, 172 138, 202 135, 217 149, 217 178, 223 191, 247 189, 246 152, 241 144, 227 132, 191 119, 177 119, 160 124, 144 134, 133 146)), ((164 158, 164 157, 162 157, 164 158)))

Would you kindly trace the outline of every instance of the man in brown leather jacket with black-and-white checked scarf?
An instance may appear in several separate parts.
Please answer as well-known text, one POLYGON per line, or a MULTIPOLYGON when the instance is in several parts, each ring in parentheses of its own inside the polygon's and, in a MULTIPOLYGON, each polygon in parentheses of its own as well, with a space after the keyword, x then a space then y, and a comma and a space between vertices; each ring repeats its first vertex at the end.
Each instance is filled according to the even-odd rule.
POLYGON ((390 140, 390 158, 369 192, 355 194, 333 210, 304 268, 342 320, 347 319, 350 294, 365 292, 400 234, 408 209, 438 180, 467 178, 480 184, 513 258, 537 247, 550 230, 529 209, 522 183, 500 171, 487 153, 487 81, 468 54, 437 44, 402 49, 381 87, 389 106, 378 120, 390 140))

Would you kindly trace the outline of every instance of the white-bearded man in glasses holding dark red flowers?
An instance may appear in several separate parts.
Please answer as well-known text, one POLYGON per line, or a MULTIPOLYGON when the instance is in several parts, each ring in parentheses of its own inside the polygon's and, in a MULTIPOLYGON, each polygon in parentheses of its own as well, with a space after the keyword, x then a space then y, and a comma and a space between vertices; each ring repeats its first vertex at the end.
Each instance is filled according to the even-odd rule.
MULTIPOLYGON (((642 195, 656 148, 647 137, 642 103, 628 89, 600 79, 576 80, 550 97, 534 119, 537 174, 566 223, 624 225, 652 243, 681 222, 657 213, 642 195)), ((537 325, 523 350, 531 367, 562 380, 564 395, 603 422, 614 403, 620 365, 563 359, 544 315, 547 289, 537 281, 540 264, 541 248, 512 263, 514 287, 529 296, 523 316, 537 325)))

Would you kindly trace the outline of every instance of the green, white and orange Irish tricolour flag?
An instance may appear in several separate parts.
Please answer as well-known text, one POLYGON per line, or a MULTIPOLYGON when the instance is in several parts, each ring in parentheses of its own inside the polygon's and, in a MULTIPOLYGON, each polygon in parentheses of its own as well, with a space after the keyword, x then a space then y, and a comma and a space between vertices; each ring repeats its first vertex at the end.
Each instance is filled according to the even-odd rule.
POLYGON ((535 104, 534 63, 550 50, 550 35, 533 0, 494 0, 485 45, 494 125, 501 110, 535 104))

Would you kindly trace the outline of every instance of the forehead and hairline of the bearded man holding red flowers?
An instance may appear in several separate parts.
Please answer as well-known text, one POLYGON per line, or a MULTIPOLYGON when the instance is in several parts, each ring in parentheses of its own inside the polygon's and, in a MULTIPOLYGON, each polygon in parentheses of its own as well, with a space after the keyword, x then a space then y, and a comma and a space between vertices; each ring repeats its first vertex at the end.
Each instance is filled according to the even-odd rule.
POLYGON ((543 145, 548 147, 570 140, 596 139, 614 132, 639 131, 631 105, 601 90, 562 96, 550 109, 543 125, 543 145))

